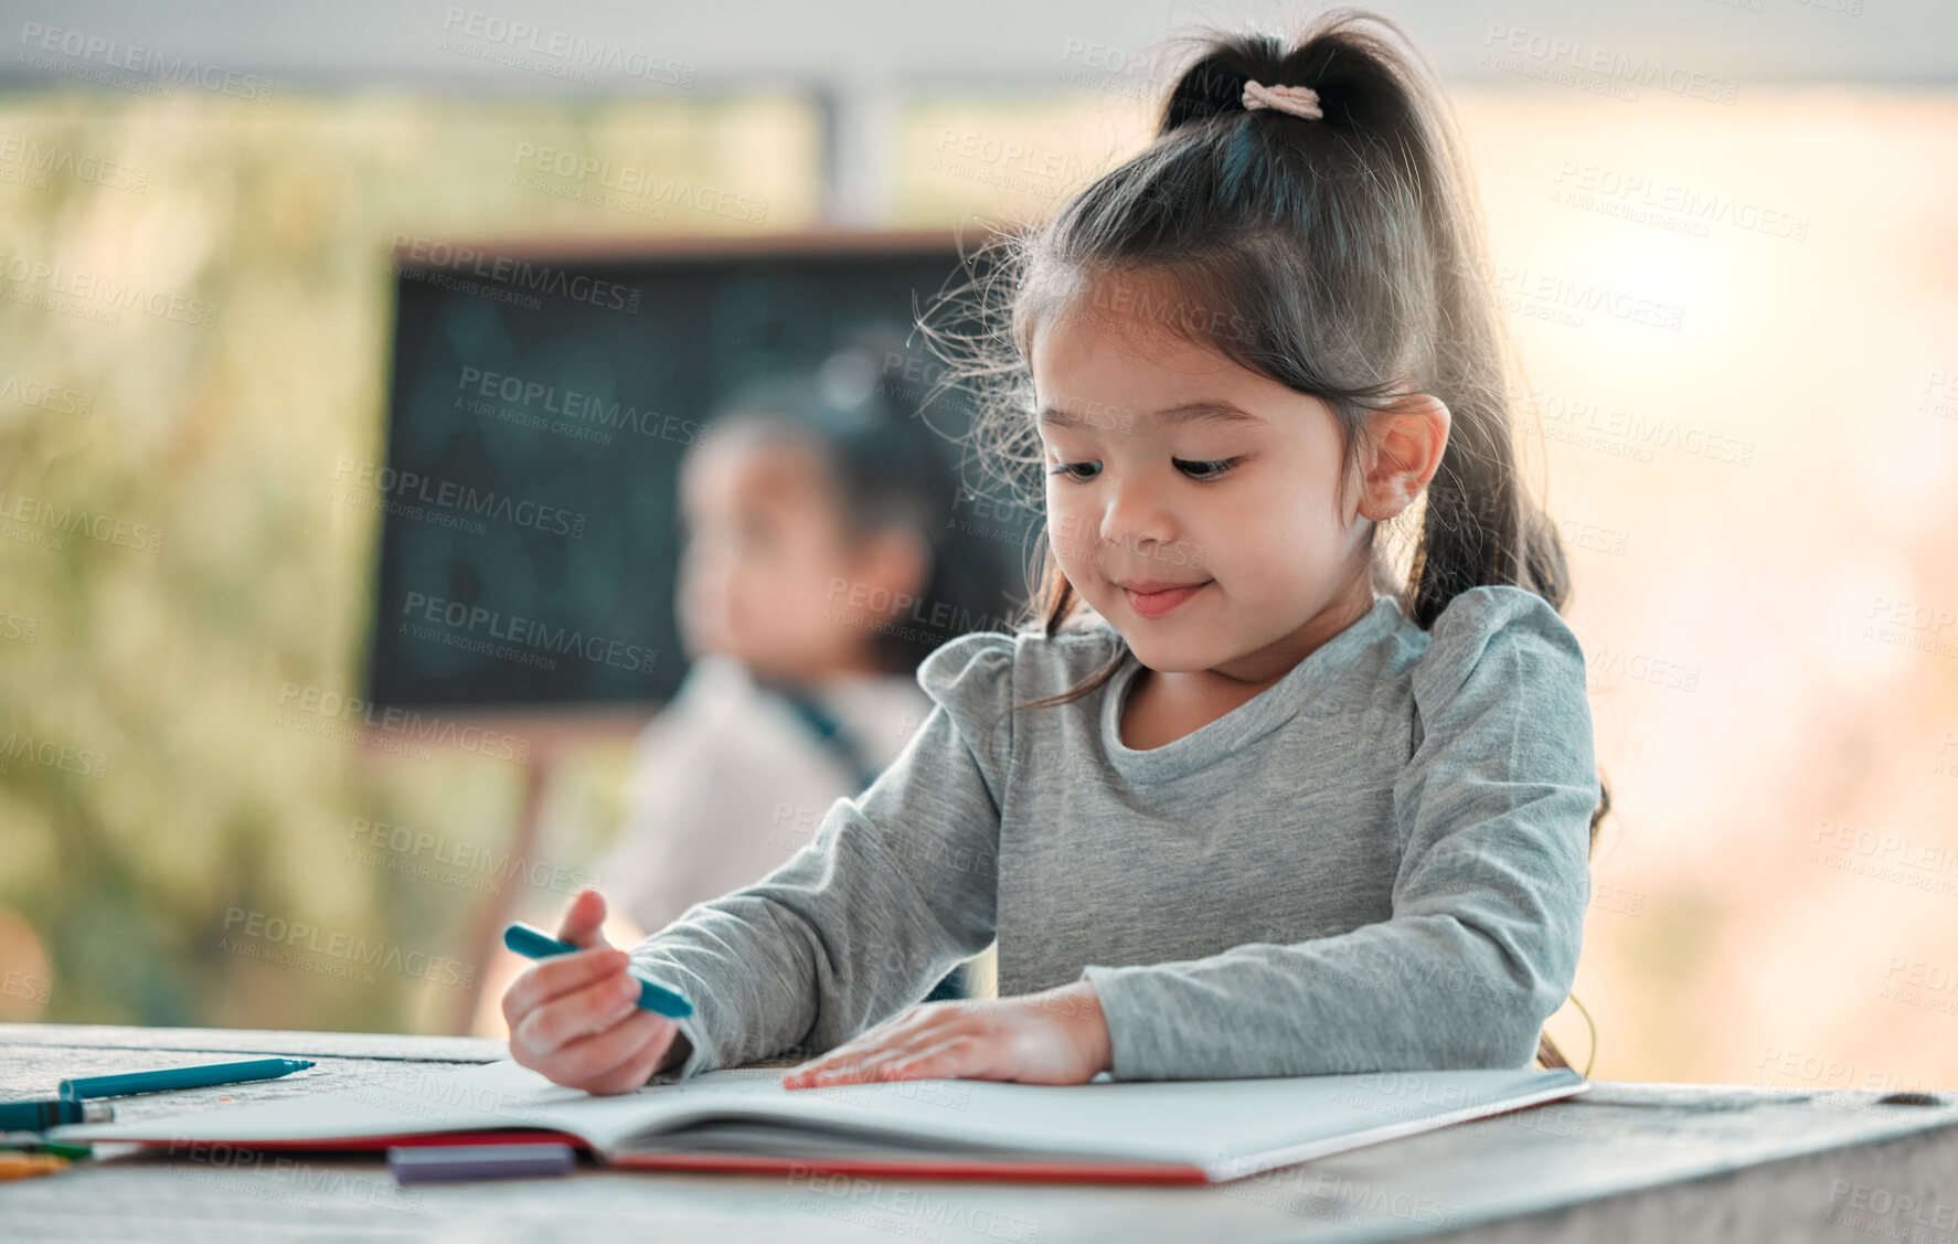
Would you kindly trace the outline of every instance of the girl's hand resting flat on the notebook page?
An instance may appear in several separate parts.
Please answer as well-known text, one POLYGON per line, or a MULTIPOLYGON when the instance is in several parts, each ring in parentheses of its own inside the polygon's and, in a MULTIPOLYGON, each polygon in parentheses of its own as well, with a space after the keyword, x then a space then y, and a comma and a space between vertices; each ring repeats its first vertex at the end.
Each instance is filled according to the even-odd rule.
POLYGON ((1044 993, 918 1003, 781 1077, 787 1089, 879 1079, 1087 1083, 1112 1066, 1089 981, 1044 993))

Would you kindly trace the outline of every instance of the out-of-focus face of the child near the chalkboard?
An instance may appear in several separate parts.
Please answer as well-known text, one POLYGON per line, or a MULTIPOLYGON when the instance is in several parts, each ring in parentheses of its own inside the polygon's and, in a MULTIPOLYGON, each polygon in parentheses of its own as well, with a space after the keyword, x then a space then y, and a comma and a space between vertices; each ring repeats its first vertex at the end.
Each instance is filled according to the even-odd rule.
POLYGON ((889 601, 918 592, 922 554, 893 535, 852 541, 813 451, 715 441, 687 458, 679 498, 687 650, 805 684, 877 672, 873 627, 889 601))

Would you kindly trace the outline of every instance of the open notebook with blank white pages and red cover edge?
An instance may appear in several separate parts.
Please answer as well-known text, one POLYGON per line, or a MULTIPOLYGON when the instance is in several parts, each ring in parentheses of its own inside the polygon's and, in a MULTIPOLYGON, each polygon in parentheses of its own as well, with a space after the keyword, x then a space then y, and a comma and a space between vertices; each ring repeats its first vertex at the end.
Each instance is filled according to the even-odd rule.
POLYGON ((386 1085, 57 1128, 61 1140, 384 1148, 556 1132, 615 1166, 1220 1183, 1590 1087, 1555 1072, 1378 1072, 1030 1085, 783 1089, 781 1068, 591 1097, 513 1062, 386 1085))

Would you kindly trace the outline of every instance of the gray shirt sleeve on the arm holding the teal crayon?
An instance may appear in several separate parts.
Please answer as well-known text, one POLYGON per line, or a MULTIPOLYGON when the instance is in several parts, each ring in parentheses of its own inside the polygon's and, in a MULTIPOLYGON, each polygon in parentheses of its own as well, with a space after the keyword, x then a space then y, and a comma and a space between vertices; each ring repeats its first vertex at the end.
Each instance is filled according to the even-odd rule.
POLYGON ((932 711, 860 795, 754 885, 632 948, 677 989, 693 1044, 676 1077, 820 1054, 924 999, 993 942, 1016 641, 979 631, 918 666, 932 711))

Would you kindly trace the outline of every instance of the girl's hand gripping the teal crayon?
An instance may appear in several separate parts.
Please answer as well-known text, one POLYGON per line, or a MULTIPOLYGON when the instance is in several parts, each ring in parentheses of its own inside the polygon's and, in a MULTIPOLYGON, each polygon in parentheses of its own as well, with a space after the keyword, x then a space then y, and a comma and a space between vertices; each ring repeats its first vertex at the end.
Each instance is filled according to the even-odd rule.
POLYGON ((599 933, 605 897, 582 889, 558 936, 576 954, 546 958, 503 991, 509 1056, 552 1083, 587 1093, 629 1093, 656 1072, 685 1062, 691 1042, 679 1027, 638 1005, 638 978, 625 950, 599 933))

